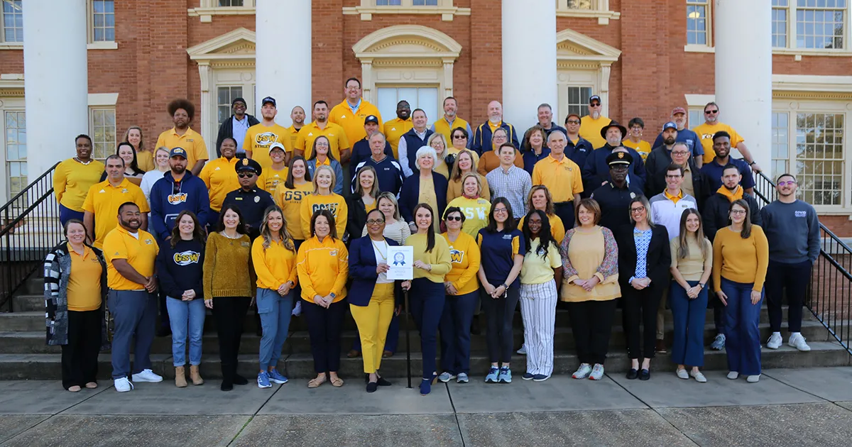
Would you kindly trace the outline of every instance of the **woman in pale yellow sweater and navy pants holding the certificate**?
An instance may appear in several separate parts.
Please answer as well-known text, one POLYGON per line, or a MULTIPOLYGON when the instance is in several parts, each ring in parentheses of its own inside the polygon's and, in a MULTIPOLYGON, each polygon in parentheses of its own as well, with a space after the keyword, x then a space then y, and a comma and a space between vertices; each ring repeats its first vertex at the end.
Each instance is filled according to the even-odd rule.
POLYGON ((435 237, 435 212, 426 203, 420 203, 412 211, 417 232, 406 240, 414 247, 414 280, 409 303, 412 317, 420 330, 420 350, 423 352, 423 380, 420 394, 432 390, 438 377, 437 331, 441 313, 444 311, 444 276, 450 272, 450 246, 445 238, 435 237))

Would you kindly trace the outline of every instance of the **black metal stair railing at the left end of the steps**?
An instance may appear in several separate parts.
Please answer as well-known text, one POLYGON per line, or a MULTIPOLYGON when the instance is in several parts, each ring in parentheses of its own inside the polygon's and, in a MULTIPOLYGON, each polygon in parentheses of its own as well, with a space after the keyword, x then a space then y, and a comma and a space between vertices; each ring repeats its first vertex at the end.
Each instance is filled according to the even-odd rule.
POLYGON ((62 238, 59 203, 53 198, 53 174, 58 164, 0 207, 0 309, 9 303, 9 312, 14 311, 12 296, 62 238))

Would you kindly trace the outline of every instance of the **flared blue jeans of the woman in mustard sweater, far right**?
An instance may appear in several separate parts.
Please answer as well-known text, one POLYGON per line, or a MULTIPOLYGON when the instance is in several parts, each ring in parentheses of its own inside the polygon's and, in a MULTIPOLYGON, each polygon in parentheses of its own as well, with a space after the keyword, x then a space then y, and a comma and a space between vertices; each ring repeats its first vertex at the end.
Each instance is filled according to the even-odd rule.
POLYGON ((760 374, 760 301, 751 304, 751 288, 754 283, 734 283, 722 278, 722 292, 728 295, 725 307, 725 352, 728 354, 728 370, 743 375, 760 374))

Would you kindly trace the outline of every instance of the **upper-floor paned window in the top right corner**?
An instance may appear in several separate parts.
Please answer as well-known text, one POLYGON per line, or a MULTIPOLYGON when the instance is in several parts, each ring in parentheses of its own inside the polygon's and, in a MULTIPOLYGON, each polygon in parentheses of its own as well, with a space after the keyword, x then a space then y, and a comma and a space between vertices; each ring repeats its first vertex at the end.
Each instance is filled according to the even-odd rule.
POLYGON ((776 49, 844 49, 847 0, 772 0, 776 49), (790 23, 795 18, 795 23, 790 23))

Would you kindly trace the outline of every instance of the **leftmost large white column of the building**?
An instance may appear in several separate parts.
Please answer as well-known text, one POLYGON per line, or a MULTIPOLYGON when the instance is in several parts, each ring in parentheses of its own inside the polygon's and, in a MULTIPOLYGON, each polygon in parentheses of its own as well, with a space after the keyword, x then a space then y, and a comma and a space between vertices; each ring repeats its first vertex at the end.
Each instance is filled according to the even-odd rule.
POLYGON ((72 158, 89 133, 85 0, 26 0, 24 94, 27 175, 32 181, 72 158))

